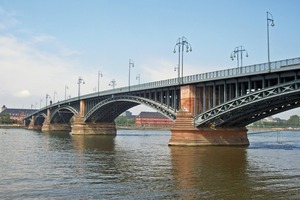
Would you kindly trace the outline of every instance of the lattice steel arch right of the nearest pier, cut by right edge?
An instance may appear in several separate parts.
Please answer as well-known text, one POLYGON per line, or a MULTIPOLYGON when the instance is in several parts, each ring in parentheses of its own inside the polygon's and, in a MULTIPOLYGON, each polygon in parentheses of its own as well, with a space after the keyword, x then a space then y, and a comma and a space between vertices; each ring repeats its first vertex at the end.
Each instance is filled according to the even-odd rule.
POLYGON ((195 127, 246 126, 300 106, 300 80, 265 88, 235 98, 194 118, 195 127))

